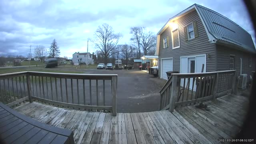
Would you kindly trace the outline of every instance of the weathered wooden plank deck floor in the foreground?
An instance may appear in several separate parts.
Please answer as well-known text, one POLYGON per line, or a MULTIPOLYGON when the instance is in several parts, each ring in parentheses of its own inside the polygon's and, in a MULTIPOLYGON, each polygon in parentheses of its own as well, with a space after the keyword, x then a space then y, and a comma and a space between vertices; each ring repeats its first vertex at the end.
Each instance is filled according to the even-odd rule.
POLYGON ((76 144, 210 144, 234 138, 246 114, 248 99, 223 96, 206 102, 210 111, 187 106, 142 113, 86 112, 26 103, 14 108, 31 118, 74 132, 76 144))

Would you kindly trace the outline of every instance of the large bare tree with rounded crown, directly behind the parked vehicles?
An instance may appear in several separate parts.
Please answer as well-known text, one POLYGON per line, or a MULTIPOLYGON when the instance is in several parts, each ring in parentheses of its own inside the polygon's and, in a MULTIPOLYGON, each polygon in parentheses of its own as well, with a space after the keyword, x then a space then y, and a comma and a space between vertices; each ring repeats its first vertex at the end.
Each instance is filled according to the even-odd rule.
POLYGON ((116 45, 122 36, 120 33, 115 34, 112 26, 108 24, 98 26, 94 36, 95 38, 92 42, 94 42, 96 48, 100 49, 104 57, 104 62, 106 63, 108 57, 112 56, 116 51, 116 45))

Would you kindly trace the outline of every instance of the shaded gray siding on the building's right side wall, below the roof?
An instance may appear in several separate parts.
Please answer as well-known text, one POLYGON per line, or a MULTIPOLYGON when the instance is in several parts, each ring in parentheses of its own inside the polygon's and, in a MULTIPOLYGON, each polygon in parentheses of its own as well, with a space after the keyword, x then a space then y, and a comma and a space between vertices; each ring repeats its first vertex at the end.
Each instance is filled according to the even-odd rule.
POLYGON ((242 52, 222 45, 216 45, 217 50, 217 70, 230 70, 230 55, 234 55, 234 69, 240 74, 240 58, 242 58, 242 74, 252 75, 255 70, 256 58, 248 52, 242 52), (250 57, 252 58, 252 67, 249 66, 250 57))

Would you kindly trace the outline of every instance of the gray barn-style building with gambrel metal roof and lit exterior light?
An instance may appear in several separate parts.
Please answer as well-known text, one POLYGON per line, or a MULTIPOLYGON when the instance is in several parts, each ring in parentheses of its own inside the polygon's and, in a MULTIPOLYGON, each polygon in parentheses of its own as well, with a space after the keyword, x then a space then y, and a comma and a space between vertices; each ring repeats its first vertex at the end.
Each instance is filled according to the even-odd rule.
POLYGON ((251 35, 225 16, 193 4, 170 18, 157 34, 158 75, 237 70, 255 70, 256 50, 251 35))

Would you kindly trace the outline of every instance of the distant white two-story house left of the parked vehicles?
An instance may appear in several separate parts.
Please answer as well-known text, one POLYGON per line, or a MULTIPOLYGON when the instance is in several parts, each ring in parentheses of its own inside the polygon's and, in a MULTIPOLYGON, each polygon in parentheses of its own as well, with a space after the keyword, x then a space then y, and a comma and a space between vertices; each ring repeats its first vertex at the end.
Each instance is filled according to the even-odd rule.
POLYGON ((78 65, 80 62, 84 62, 86 64, 94 64, 93 54, 90 54, 90 52, 75 52, 73 54, 72 62, 74 65, 78 65))

